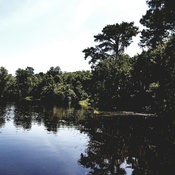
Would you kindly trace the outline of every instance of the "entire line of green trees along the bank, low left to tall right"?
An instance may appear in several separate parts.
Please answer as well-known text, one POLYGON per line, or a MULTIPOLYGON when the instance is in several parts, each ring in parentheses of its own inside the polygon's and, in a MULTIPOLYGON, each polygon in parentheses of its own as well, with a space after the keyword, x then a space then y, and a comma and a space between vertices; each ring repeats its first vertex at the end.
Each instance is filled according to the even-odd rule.
POLYGON ((88 99, 103 110, 132 110, 174 114, 175 10, 173 0, 147 0, 149 9, 134 22, 105 26, 94 36, 95 47, 83 50, 91 71, 62 72, 51 67, 35 74, 32 67, 15 76, 0 67, 1 99, 41 100, 75 105, 88 99), (140 54, 131 57, 126 48, 140 34, 140 54))

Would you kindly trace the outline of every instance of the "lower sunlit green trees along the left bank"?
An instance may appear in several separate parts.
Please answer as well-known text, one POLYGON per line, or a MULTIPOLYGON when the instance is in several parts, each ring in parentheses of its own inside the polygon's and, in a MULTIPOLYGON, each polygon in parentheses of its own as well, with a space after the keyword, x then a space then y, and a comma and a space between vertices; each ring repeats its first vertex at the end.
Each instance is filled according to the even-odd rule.
POLYGON ((51 67, 46 73, 35 74, 32 67, 27 67, 12 76, 0 67, 1 100, 75 105, 88 98, 90 79, 90 71, 63 73, 59 67, 51 67))

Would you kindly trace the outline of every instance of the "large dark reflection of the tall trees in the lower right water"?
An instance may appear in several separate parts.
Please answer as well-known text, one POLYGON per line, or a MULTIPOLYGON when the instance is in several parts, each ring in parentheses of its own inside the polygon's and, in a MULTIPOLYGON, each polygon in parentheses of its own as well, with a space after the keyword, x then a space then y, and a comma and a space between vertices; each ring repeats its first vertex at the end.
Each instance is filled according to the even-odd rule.
POLYGON ((79 163, 91 169, 89 175, 166 175, 174 169, 174 124, 158 118, 101 118, 82 131, 90 142, 79 163))

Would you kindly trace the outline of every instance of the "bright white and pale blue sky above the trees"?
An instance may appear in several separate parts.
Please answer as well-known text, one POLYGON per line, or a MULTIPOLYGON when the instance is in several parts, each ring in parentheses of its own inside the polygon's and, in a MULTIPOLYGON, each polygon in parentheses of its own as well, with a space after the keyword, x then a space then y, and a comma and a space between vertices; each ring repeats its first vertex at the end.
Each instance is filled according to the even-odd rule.
MULTIPOLYGON (((82 50, 97 44, 93 36, 122 21, 141 28, 146 10, 146 0, 0 0, 0 67, 90 70, 82 50)), ((130 56, 140 52, 139 36, 133 41, 130 56)))

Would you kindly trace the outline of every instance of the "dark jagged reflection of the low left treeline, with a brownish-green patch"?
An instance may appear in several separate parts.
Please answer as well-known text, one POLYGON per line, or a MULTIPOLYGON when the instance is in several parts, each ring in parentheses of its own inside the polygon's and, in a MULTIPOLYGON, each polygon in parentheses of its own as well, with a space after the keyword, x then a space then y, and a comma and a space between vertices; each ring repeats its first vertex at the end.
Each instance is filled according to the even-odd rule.
POLYGON ((57 106, 16 104, 13 122, 16 127, 31 129, 32 124, 44 125, 48 132, 57 133, 61 125, 71 125, 83 119, 84 111, 57 106))

